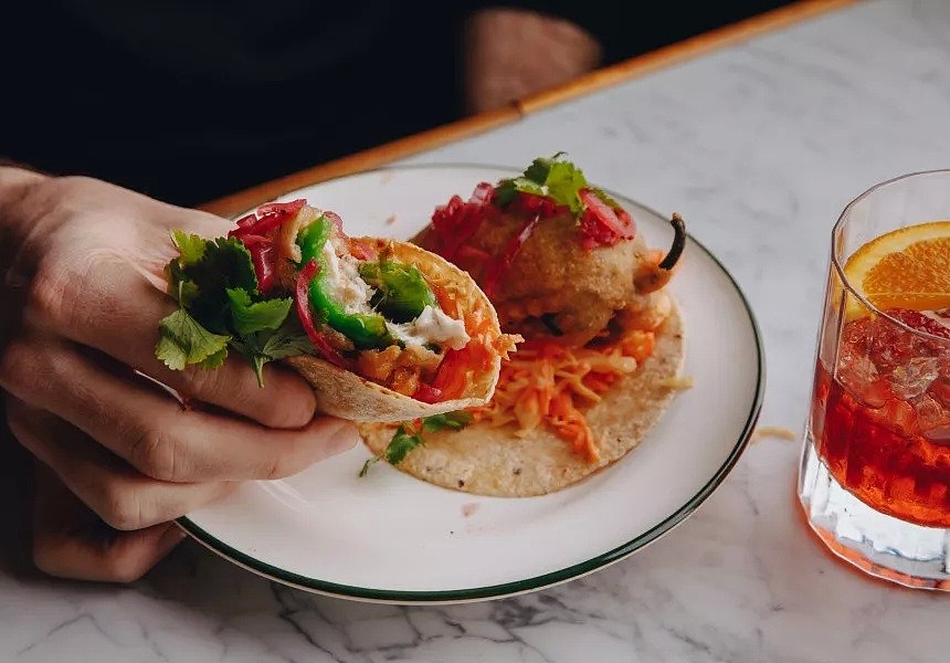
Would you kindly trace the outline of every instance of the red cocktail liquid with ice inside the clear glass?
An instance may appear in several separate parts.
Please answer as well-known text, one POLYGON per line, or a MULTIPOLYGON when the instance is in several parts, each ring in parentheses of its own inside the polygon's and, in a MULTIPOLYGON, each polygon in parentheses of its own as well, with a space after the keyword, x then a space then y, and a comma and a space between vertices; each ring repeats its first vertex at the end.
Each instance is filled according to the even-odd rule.
MULTIPOLYGON (((950 335, 923 314, 889 311, 950 335)), ((880 317, 847 323, 837 375, 819 361, 812 434, 837 482, 872 508, 950 527, 950 364, 931 343, 880 317)))

